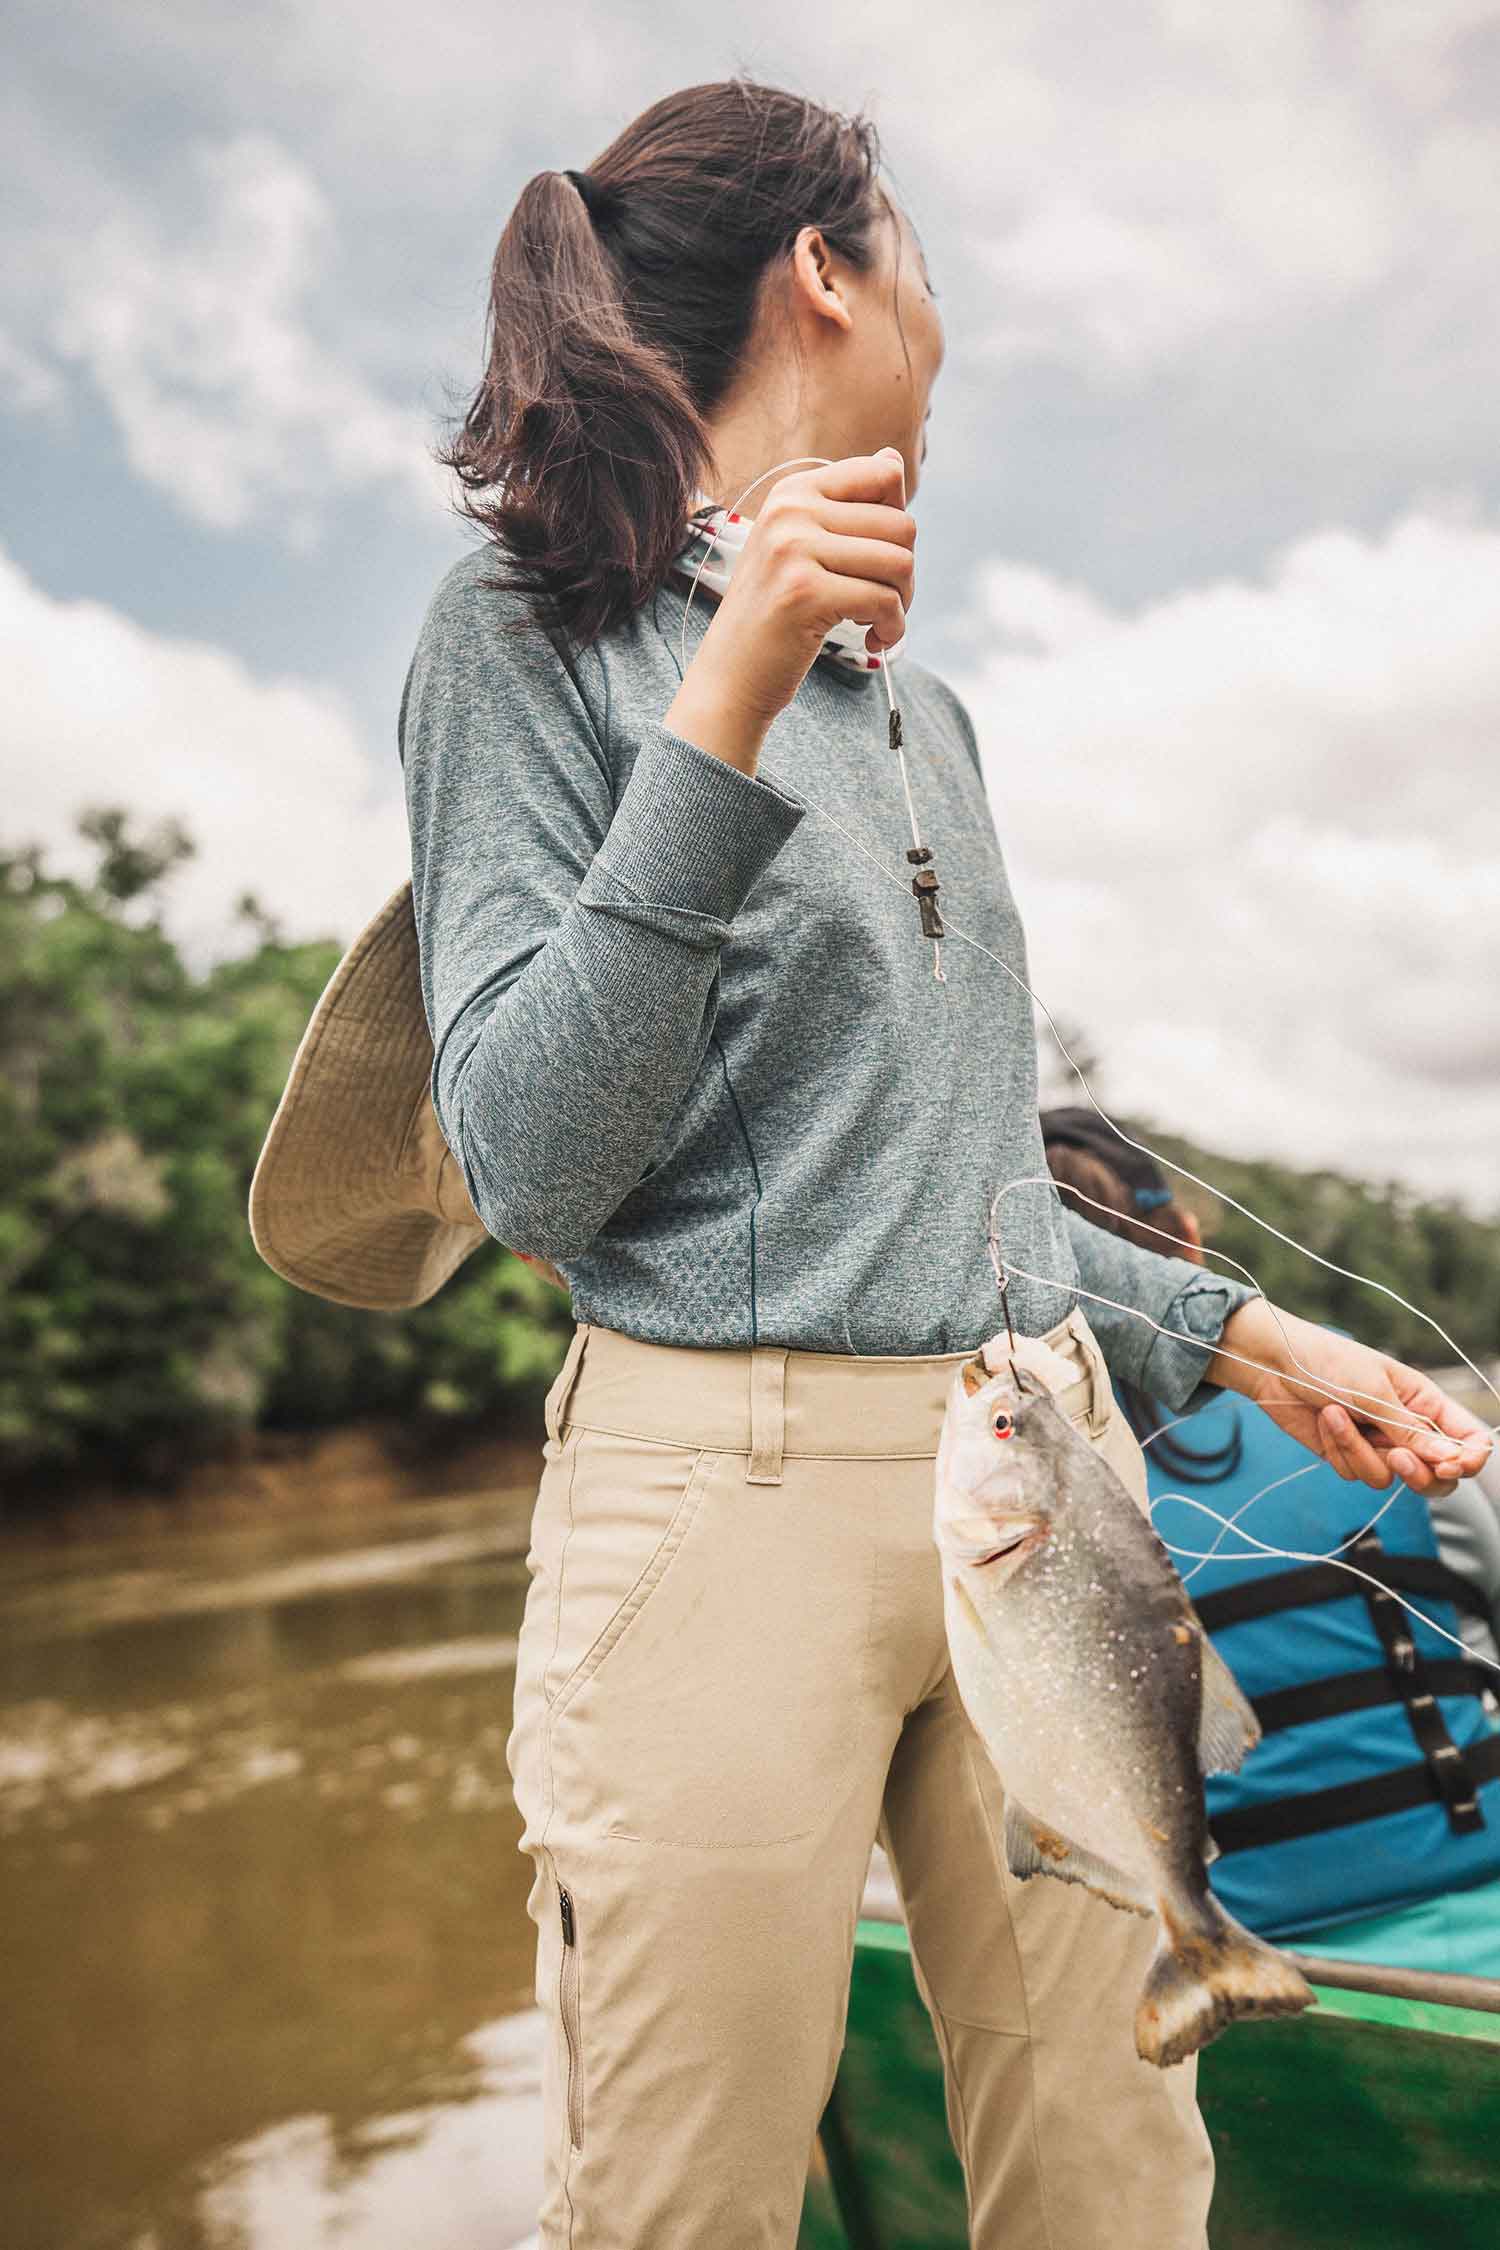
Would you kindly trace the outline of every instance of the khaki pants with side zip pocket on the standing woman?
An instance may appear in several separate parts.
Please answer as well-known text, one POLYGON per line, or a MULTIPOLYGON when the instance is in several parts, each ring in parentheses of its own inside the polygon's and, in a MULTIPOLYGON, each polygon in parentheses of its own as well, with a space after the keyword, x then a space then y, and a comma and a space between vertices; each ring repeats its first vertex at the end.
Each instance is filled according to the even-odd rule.
MULTIPOLYGON (((1145 1508, 1082 1310, 1057 1395, 1145 1508)), ((967 1352, 578 1325, 546 1400, 508 1760, 533 1858, 549 2250, 792 2250, 879 1836, 978 2250, 1203 2250, 1156 1926, 1001 1850, 949 1670, 933 1456, 967 1352)))

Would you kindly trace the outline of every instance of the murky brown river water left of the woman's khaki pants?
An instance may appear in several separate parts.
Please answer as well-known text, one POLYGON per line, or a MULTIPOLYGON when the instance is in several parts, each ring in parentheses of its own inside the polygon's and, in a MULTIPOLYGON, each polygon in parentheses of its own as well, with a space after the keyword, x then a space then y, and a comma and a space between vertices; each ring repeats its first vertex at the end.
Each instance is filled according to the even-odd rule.
POLYGON ((533 1492, 0 1537, 4 2250, 531 2234, 533 1492))

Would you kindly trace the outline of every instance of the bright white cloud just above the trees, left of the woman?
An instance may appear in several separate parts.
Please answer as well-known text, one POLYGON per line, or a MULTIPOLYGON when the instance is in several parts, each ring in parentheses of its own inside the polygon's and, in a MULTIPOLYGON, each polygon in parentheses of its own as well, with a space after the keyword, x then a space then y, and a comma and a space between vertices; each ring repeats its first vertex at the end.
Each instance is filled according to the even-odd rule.
POLYGON ((256 680, 205 641, 164 639, 94 601, 54 601, 0 554, 4 832, 67 873, 94 866, 83 806, 178 819, 198 853, 164 891, 191 958, 245 945, 254 891, 290 938, 353 936, 409 868, 400 770, 376 783, 340 698, 256 680))

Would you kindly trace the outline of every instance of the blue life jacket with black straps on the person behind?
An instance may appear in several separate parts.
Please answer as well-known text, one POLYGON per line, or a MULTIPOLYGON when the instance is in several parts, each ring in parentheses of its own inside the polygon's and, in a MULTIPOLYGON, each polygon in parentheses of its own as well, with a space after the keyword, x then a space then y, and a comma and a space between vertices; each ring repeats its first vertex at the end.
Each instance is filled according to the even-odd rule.
MULTIPOLYGON (((1264 1739, 1239 1773, 1210 1775, 1219 1858, 1210 1883, 1248 1928, 1289 1937, 1500 1876, 1500 1730, 1493 1678, 1388 1591, 1334 1564, 1253 1552, 1183 1498, 1232 1516, 1262 1485, 1244 1526, 1266 1546, 1325 1555, 1370 1523, 1390 1492, 1347 1483, 1271 1415, 1232 1390, 1174 1436, 1219 1447, 1241 1429, 1239 1467, 1219 1483, 1172 1478, 1147 1447, 1151 1521, 1187 1595, 1255 1706, 1264 1739), (1194 1573, 1194 1575, 1190 1575, 1194 1573)), ((1489 1622, 1484 1593, 1439 1559, 1433 1521, 1401 1492, 1345 1559, 1417 1604, 1448 1634, 1460 1616, 1489 1622)))

